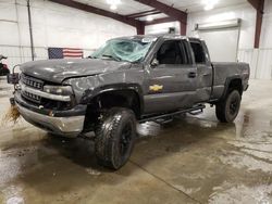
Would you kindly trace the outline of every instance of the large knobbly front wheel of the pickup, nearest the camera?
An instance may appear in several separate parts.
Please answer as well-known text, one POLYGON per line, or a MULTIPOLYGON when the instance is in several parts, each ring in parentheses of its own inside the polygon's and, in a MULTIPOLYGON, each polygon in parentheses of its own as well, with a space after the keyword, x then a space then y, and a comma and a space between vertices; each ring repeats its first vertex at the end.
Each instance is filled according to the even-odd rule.
POLYGON ((109 110, 96 127, 95 152, 98 164, 121 168, 129 158, 136 138, 136 119, 131 110, 109 110))

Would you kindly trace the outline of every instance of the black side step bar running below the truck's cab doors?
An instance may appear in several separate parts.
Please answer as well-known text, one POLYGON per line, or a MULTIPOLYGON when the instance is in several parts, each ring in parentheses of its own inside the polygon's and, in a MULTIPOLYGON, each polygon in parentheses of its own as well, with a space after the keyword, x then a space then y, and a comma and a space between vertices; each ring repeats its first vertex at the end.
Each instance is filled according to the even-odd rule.
POLYGON ((174 117, 174 116, 183 114, 183 113, 190 113, 191 114, 191 113, 194 113, 196 111, 198 111, 196 113, 199 114, 200 112, 202 113, 202 110, 206 106, 203 104, 200 104, 200 105, 187 109, 187 110, 180 110, 180 111, 176 111, 176 112, 165 113, 165 114, 162 114, 162 115, 153 115, 153 116, 149 116, 149 117, 147 116, 147 117, 144 117, 144 118, 139 119, 138 122, 139 123, 156 122, 158 119, 165 118, 165 117, 174 117))

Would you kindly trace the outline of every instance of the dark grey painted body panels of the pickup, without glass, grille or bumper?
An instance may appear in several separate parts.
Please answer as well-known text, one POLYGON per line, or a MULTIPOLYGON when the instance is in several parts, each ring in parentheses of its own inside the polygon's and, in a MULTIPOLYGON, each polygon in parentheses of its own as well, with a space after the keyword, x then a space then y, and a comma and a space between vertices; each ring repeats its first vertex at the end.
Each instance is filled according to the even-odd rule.
POLYGON ((240 79, 246 90, 249 65, 245 63, 212 63, 206 43, 197 38, 176 35, 134 36, 124 38, 154 38, 145 59, 139 63, 99 59, 36 61, 21 65, 21 71, 45 80, 45 84, 70 85, 76 104, 88 104, 100 93, 115 90, 134 91, 140 101, 140 116, 185 110, 199 103, 220 100, 232 79, 240 79), (183 41, 189 63, 158 65, 151 62, 166 40, 183 41), (190 42, 202 44, 206 63, 195 63, 190 42), (195 77, 189 77, 194 74, 195 77), (151 91, 151 86, 162 86, 151 91))

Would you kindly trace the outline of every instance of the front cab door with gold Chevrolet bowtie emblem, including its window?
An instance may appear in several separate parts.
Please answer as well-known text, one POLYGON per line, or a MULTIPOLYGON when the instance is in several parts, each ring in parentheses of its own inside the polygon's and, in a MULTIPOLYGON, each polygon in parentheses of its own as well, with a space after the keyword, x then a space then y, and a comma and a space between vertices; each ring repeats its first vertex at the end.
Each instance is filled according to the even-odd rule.
POLYGON ((158 42, 151 58, 145 90, 145 113, 191 107, 195 103, 197 67, 185 39, 158 42))

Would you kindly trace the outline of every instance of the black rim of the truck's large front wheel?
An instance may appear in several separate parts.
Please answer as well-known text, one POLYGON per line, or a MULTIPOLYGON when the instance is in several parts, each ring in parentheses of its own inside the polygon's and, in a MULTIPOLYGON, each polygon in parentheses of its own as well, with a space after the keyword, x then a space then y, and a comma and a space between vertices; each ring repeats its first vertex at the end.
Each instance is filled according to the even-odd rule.
POLYGON ((122 130, 121 139, 120 139, 120 154, 124 156, 129 150, 132 141, 132 126, 126 124, 122 130))

